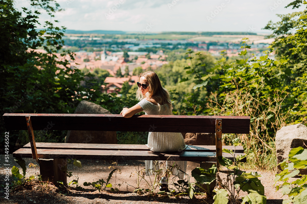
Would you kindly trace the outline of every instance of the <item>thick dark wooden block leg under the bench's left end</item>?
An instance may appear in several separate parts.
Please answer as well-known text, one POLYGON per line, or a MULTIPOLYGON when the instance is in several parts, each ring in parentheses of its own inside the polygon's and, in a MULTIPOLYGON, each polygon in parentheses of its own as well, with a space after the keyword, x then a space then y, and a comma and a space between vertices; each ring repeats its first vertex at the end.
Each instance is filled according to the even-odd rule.
POLYGON ((43 181, 56 185, 62 181, 67 185, 67 159, 39 159, 40 174, 43 181))

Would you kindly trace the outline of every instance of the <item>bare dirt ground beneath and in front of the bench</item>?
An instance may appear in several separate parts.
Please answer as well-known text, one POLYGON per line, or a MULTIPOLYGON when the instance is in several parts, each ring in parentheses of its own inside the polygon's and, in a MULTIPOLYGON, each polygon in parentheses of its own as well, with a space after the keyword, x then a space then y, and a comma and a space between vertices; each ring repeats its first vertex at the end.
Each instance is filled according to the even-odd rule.
MULTIPOLYGON (((121 203, 121 204, 169 204, 169 203, 212 203, 213 200, 211 197, 207 197, 205 195, 196 195, 195 198, 190 199, 188 195, 182 196, 168 196, 164 195, 150 195, 149 193, 136 193, 134 190, 137 188, 138 180, 140 180, 140 176, 137 175, 137 171, 144 168, 144 161, 118 161, 117 164, 112 164, 110 161, 105 160, 80 160, 82 164, 82 168, 78 168, 72 164, 68 164, 68 172, 72 172, 72 177, 68 178, 68 183, 71 180, 77 180, 81 187, 86 189, 92 189, 88 186, 83 186, 84 182, 94 182, 99 179, 107 180, 109 173, 113 170, 113 167, 116 169, 120 169, 121 172, 117 172, 116 175, 113 173, 111 183, 113 188, 116 186, 119 188, 119 192, 111 192, 107 191, 78 191, 74 187, 76 185, 72 185, 72 188, 69 191, 64 189, 59 189, 50 185, 48 183, 42 185, 38 182, 29 182, 26 185, 16 187, 13 192, 9 194, 9 200, 4 198, 5 189, 1 187, 0 189, 0 203, 8 203, 8 204, 19 204, 19 203, 121 203), (112 166, 112 167, 110 167, 112 166), (110 167, 110 169, 109 169, 110 167)), ((26 165, 29 163, 36 164, 36 161, 30 158, 25 158, 26 165)), ((0 185, 5 185, 5 171, 4 171, 4 155, 0 155, 0 163, 1 163, 1 175, 0 175, 0 185)), ((19 165, 14 161, 12 155, 9 158, 10 169, 13 165, 19 167, 19 165)), ((6 164, 8 164, 6 162, 6 164)), ((187 174, 191 175, 192 169, 196 166, 199 166, 196 162, 188 162, 187 174)), ((20 172, 22 172, 21 168, 20 172)), ((246 170, 247 172, 251 172, 251 170, 246 170)), ((36 175, 39 173, 39 168, 36 167, 28 167, 26 172, 26 177, 30 175, 36 175)), ((267 197, 268 204, 277 204, 282 203, 282 200, 287 198, 286 196, 282 196, 282 193, 275 190, 274 187, 274 172, 265 172, 258 171, 262 177, 259 179, 265 188, 265 195, 267 197)), ((226 176, 225 173, 221 172, 220 176, 223 178, 226 176)), ((12 178, 10 177, 10 182, 12 178)), ((147 182, 150 183, 150 180, 153 181, 154 176, 145 176, 147 182)), ((192 177, 186 176, 185 179, 189 179, 190 181, 194 181, 192 177)), ((140 188, 148 188, 148 184, 146 184, 145 180, 141 180, 139 183, 140 188)), ((170 186, 171 188, 172 186, 170 186)), ((110 188, 107 188, 110 189, 110 188)), ((158 189, 157 189, 158 190, 158 189)), ((157 192, 157 191, 156 191, 157 192)), ((244 193, 242 194, 244 195, 244 193)), ((240 196, 242 196, 240 194, 240 196)))

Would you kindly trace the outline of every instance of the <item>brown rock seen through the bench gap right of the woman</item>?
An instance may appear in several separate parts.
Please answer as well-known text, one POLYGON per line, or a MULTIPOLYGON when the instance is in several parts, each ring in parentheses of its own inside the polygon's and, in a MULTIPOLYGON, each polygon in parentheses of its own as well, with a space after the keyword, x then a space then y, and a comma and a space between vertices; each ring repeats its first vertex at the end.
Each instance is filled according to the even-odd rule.
POLYGON ((187 145, 216 145, 214 133, 187 133, 185 134, 187 145))

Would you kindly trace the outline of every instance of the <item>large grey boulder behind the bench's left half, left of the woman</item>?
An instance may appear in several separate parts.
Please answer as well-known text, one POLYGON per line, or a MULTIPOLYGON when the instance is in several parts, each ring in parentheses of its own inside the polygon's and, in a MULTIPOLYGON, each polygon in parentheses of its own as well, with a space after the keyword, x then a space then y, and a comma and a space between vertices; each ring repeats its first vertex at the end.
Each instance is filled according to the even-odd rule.
MULTIPOLYGON (((81 101, 75 114, 111 114, 103 107, 88 101, 81 101)), ((114 131, 68 131, 65 143, 117 144, 114 131)))

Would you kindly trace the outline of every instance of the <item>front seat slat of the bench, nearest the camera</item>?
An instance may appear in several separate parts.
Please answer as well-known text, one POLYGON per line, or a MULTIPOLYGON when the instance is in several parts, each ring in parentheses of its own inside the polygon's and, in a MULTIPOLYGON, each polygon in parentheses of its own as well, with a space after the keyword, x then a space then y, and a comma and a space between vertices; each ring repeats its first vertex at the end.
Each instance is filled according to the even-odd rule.
MULTIPOLYGON (((244 155, 244 153, 236 153, 244 155)), ((29 148, 21 148, 13 153, 14 157, 31 158, 29 148)), ((169 161, 216 161, 215 152, 169 152, 158 153, 152 151, 128 150, 67 150, 67 149, 39 149, 38 158, 55 159, 104 159, 104 160, 169 160, 169 161)), ((223 157, 233 160, 230 154, 223 153, 223 157)))

